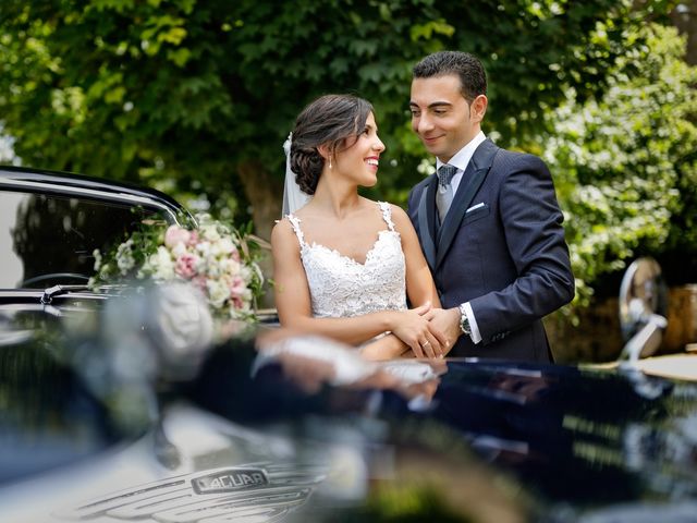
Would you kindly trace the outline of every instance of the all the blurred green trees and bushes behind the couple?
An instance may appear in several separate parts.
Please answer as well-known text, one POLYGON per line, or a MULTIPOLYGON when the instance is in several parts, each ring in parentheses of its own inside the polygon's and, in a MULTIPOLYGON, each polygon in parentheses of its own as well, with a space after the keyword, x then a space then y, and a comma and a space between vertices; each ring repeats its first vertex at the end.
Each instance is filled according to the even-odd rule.
POLYGON ((573 309, 639 255, 697 282, 696 25, 696 0, 3 0, 0 160, 155 186, 268 238, 295 115, 353 93, 388 146, 366 193, 405 206, 433 163, 411 68, 466 50, 485 132, 553 173, 573 309))

